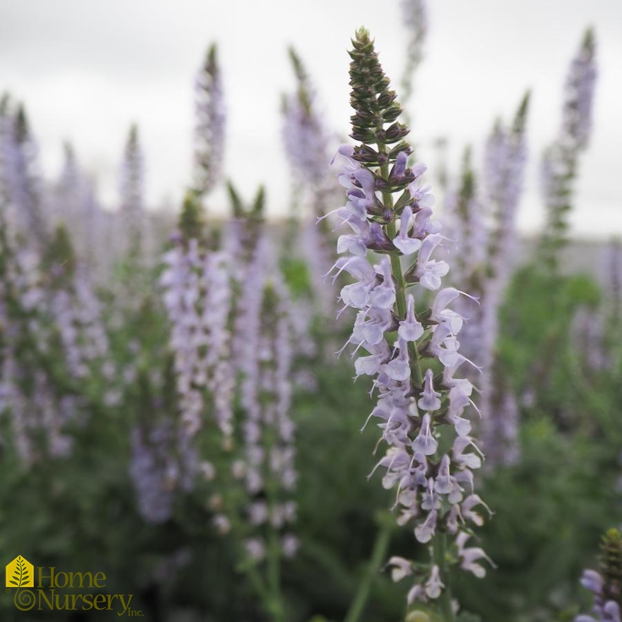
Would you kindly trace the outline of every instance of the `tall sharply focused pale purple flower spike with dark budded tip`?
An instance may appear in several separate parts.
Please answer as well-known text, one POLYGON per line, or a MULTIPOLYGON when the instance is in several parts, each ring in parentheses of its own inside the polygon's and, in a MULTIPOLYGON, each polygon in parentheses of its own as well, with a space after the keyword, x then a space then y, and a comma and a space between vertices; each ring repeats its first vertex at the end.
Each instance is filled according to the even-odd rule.
POLYGON ((462 417, 472 385, 453 377, 464 360, 457 340, 463 318, 447 304, 459 292, 441 289, 449 266, 431 258, 443 236, 431 220, 434 199, 420 183, 425 166, 407 166, 409 129, 396 120, 402 109, 367 30, 356 33, 350 56, 351 137, 360 144, 340 148, 334 166, 356 209, 338 210, 352 233, 334 267, 357 280, 344 286, 341 300, 358 313, 351 342, 363 353, 356 369, 373 378, 371 418, 388 445, 378 464, 387 469, 382 484, 396 488, 398 524, 411 525, 416 539, 431 547, 429 572, 412 567, 408 599, 436 601, 443 619, 452 621, 447 535, 456 538, 457 563, 480 576, 483 567, 472 563, 472 552, 463 560, 461 534, 469 522, 480 524, 474 508, 486 508, 472 492, 472 469, 481 460, 462 417), (414 301, 436 291, 431 309, 415 308, 414 301))

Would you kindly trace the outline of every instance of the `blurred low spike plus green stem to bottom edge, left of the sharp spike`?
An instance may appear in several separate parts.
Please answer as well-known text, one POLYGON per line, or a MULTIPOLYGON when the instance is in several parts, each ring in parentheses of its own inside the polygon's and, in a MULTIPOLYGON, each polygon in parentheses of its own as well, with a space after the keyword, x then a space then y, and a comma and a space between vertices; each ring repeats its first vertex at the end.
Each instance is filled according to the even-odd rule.
MULTIPOLYGON (((284 620, 280 595, 280 558, 298 550, 291 532, 296 504, 294 425, 291 405, 292 345, 289 305, 284 286, 266 279, 262 288, 258 332, 252 337, 255 351, 256 402, 244 411, 244 484, 249 503, 245 508, 244 552, 249 572, 256 573, 255 587, 274 620, 284 620), (258 405, 258 407, 257 407, 258 405)), ((251 335, 248 335, 251 337, 251 335)), ((249 383, 246 382, 246 391, 249 383)), ((248 405, 248 402, 247 402, 248 405)))

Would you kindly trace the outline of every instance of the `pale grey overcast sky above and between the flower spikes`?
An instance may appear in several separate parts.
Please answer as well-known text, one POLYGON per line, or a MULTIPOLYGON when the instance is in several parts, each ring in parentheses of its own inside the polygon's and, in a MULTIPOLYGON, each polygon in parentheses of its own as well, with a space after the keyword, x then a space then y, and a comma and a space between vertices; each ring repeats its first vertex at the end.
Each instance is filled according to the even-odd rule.
MULTIPOLYGON (((406 41, 399 9, 398 0, 0 0, 0 90, 25 102, 46 175, 57 175, 61 144, 70 140, 108 206, 128 126, 137 122, 148 202, 176 204, 190 177, 193 79, 216 41, 229 110, 226 173, 247 195, 264 182, 269 209, 282 213, 289 180, 279 102, 293 86, 286 46, 307 64, 327 125, 346 135, 349 39, 367 26, 398 86, 406 41)), ((622 1, 429 0, 410 110, 418 155, 434 166, 434 138, 445 136, 454 168, 467 143, 479 156, 494 118, 512 115, 531 88, 523 231, 542 222, 538 161, 558 127, 565 73, 588 25, 599 80, 572 223, 577 235, 622 235, 622 1)))

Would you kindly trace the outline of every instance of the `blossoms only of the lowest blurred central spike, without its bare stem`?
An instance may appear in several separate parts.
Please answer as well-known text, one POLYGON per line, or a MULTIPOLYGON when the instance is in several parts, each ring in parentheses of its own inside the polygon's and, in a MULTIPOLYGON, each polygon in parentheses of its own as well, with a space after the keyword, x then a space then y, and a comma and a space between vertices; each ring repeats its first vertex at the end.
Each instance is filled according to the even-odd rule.
MULTIPOLYGON (((298 548, 298 540, 284 531, 295 520, 291 495, 297 480, 295 427, 289 416, 293 362, 290 303, 280 278, 269 276, 266 269, 262 278, 251 283, 258 286, 260 306, 256 309, 258 321, 247 325, 245 332, 254 346, 252 352, 247 352, 253 365, 247 361, 242 369, 245 420, 241 472, 249 498, 246 518, 254 534, 251 541, 256 543, 253 550, 269 547, 273 554, 274 534, 281 533, 280 552, 291 557, 298 548)), ((248 552, 255 562, 263 558, 248 552)))

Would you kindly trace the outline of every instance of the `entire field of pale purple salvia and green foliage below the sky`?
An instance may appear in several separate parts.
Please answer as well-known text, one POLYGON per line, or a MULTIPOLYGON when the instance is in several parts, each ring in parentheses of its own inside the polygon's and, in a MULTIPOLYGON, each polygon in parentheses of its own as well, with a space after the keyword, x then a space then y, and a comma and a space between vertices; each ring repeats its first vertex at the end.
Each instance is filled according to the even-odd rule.
POLYGON ((41 175, 2 97, 0 558, 132 594, 50 606, 7 572, 2 620, 620 622, 622 246, 583 273, 568 236, 597 33, 568 50, 545 153, 525 93, 481 162, 435 170, 407 114, 426 6, 402 9, 403 76, 373 32, 344 41, 340 128, 289 50, 281 220, 222 171, 216 45, 176 213, 146 209, 137 126, 108 211, 70 144, 41 175), (525 240, 530 160, 546 222, 525 240))

